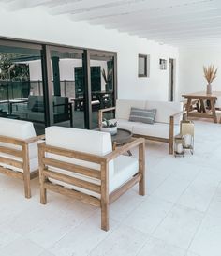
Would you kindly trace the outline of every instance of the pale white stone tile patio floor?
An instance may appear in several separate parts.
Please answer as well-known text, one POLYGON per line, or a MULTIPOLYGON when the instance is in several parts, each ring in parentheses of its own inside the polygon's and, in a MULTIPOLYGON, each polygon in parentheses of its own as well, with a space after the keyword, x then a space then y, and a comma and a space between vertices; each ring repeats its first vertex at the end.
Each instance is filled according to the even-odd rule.
MULTIPOLYGON (((96 207, 49 192, 39 203, 0 175, 0 256, 220 256, 221 125, 195 122, 195 154, 146 143, 147 195, 137 187, 111 205, 111 229, 96 207)), ((134 155, 137 152, 133 152, 134 155)))

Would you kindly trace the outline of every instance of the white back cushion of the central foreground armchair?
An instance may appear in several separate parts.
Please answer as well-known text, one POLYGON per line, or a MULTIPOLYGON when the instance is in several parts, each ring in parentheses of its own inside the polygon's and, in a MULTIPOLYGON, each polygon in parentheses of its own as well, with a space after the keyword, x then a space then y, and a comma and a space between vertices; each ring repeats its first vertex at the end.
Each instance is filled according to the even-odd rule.
MULTIPOLYGON (((45 129, 45 139, 47 145, 97 156, 105 156, 112 151, 111 134, 107 132, 54 126, 45 129)), ((48 154, 48 156, 100 170, 100 165, 93 162, 56 156, 54 154, 48 154)), ((114 173, 113 161, 110 162, 109 173, 110 176, 114 173)))

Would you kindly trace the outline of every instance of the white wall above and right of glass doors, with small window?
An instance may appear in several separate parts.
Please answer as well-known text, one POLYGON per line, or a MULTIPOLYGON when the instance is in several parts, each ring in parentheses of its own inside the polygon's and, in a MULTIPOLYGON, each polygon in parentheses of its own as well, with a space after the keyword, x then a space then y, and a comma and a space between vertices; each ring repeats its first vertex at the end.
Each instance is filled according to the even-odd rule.
MULTIPOLYGON (((168 100, 169 68, 160 70, 159 58, 174 58, 178 63, 177 48, 103 26, 72 22, 64 16, 51 16, 40 8, 9 12, 0 6, 0 23, 4 24, 0 36, 117 52, 118 98, 168 100), (139 53, 151 56, 149 78, 138 78, 139 53)), ((176 84, 177 80, 176 74, 176 84)))

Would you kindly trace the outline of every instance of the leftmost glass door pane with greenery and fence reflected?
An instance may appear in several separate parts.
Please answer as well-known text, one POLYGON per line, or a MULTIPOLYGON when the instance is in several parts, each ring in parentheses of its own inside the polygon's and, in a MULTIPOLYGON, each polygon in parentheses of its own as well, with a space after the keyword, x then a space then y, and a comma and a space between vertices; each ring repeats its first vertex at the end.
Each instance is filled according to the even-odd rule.
POLYGON ((34 123, 37 134, 45 128, 41 50, 0 43, 0 116, 34 123))

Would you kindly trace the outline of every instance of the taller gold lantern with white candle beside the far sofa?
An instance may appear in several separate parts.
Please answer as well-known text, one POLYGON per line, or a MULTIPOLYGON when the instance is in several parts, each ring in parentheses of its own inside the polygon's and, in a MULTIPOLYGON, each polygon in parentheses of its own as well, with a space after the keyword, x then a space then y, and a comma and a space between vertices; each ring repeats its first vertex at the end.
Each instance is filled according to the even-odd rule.
POLYGON ((194 123, 192 121, 181 121, 181 135, 184 137, 184 150, 194 152, 194 123))

